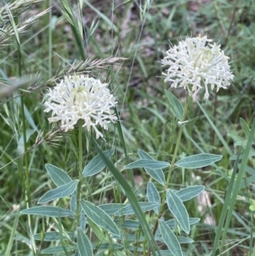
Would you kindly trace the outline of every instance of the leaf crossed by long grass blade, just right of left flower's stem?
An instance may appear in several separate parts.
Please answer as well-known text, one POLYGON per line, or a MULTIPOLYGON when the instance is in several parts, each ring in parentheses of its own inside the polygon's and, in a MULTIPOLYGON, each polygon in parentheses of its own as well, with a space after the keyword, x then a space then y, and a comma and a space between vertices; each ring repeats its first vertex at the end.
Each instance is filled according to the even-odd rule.
MULTIPOLYGON (((114 149, 111 149, 109 151, 104 151, 105 156, 110 158, 113 153, 114 149)), ((105 168, 105 162, 102 159, 100 155, 95 156, 90 162, 88 162, 87 166, 83 169, 82 171, 82 176, 83 177, 89 177, 93 176, 95 174, 98 174, 105 168)))

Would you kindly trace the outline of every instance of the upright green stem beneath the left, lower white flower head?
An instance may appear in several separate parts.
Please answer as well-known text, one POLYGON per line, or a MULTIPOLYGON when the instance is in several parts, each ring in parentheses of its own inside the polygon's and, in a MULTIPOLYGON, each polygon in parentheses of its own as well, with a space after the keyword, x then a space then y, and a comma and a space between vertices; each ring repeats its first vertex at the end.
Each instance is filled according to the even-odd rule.
POLYGON ((78 146, 79 146, 79 167, 78 167, 78 178, 79 183, 77 185, 77 227, 80 226, 80 202, 81 202, 81 190, 82 190, 82 122, 79 120, 79 126, 78 126, 79 132, 78 132, 78 146))

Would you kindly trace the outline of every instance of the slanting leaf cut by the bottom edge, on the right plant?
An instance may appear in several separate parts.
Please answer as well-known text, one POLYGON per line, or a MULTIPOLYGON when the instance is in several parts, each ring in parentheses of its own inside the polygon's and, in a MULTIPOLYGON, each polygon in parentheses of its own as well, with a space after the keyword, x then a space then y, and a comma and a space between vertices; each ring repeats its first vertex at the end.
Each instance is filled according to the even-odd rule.
POLYGON ((161 237, 167 244, 169 251, 173 253, 174 256, 183 256, 178 238, 162 219, 159 220, 159 228, 161 231, 161 237))

